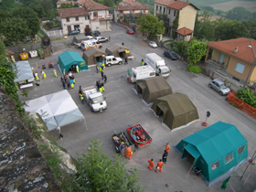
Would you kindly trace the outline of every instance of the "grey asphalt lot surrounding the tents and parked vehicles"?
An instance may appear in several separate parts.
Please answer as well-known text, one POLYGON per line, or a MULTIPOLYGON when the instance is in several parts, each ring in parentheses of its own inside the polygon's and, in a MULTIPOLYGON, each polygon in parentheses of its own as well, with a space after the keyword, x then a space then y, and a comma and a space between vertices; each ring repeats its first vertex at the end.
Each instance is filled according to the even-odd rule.
MULTIPOLYGON (((83 36, 83 34, 80 34, 80 36, 83 36)), ((117 25, 112 25, 112 32, 101 33, 101 36, 111 36, 112 39, 111 42, 103 43, 102 49, 107 48, 112 43, 124 43, 125 47, 130 48, 133 56, 135 56, 135 59, 129 61, 132 67, 139 66, 141 59, 144 59, 144 54, 146 53, 155 52, 159 56, 162 56, 164 52, 163 48, 150 48, 146 42, 138 37, 126 34, 125 29, 117 25)), ((55 44, 58 45, 59 43, 56 42, 55 44)), ((81 49, 69 46, 54 52, 48 59, 36 58, 28 59, 28 61, 32 66, 39 66, 37 71, 40 72, 41 66, 43 64, 47 65, 49 61, 53 62, 55 67, 57 67, 59 54, 67 50, 78 51, 82 55, 81 49)), ((182 160, 173 149, 170 150, 167 164, 164 165, 162 173, 156 174, 153 170, 149 171, 147 160, 154 158, 156 164, 164 153, 166 142, 174 146, 188 135, 204 129, 205 127, 201 123, 205 121, 207 111, 211 112, 211 116, 208 118, 209 125, 219 121, 235 124, 248 140, 249 155, 253 155, 256 150, 256 121, 230 106, 225 101, 225 97, 221 97, 217 92, 208 89, 208 77, 202 74, 195 75, 188 72, 186 64, 180 60, 172 61, 165 59, 165 62, 172 69, 170 77, 166 80, 174 92, 187 94, 188 98, 197 107, 200 121, 181 130, 173 132, 167 130, 160 120, 155 117, 154 113, 144 105, 141 98, 133 92, 133 84, 128 83, 126 80, 128 65, 116 65, 110 68, 107 67, 104 70, 108 77, 104 92, 108 109, 104 112, 91 112, 90 107, 86 103, 81 104, 78 96, 80 85, 82 87, 88 87, 94 85, 96 80, 101 80, 101 74, 96 73, 95 66, 91 66, 90 70, 74 73, 76 78, 75 88, 69 90, 72 99, 79 106, 80 112, 86 118, 88 130, 84 128, 83 122, 64 126, 61 128, 64 138, 61 141, 59 140, 58 143, 67 150, 69 155, 76 158, 78 153, 87 153, 87 147, 91 143, 91 140, 99 139, 102 143, 102 149, 107 155, 112 157, 115 155, 112 142, 114 130, 116 132, 125 131, 128 124, 135 125, 140 123, 153 138, 153 141, 144 148, 136 150, 133 153, 132 159, 130 161, 127 160, 126 166, 128 169, 131 167, 140 169, 140 183, 146 187, 145 191, 219 191, 221 183, 213 187, 207 187, 200 177, 189 175, 190 165, 186 160, 182 160)), ((23 101, 63 90, 59 80, 61 77, 59 70, 59 78, 54 78, 52 69, 46 69, 45 72, 48 78, 46 80, 40 80, 38 82, 40 86, 27 89, 28 97, 21 97, 23 101)), ((52 131, 51 133, 53 135, 58 134, 57 131, 52 131)), ((256 188, 255 165, 250 165, 245 176, 240 180, 245 167, 246 165, 242 165, 234 173, 229 182, 231 186, 227 187, 227 191, 231 191, 231 187, 235 191, 252 191, 256 188)))

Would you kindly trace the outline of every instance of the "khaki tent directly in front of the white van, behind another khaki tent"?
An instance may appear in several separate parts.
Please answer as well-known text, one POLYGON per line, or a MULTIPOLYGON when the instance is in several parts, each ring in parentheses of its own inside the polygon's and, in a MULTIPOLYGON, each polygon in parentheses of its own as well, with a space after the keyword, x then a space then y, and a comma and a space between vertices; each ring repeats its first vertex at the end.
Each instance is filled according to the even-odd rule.
POLYGON ((153 102, 156 98, 172 94, 172 88, 164 77, 153 77, 137 80, 134 91, 142 95, 146 103, 153 102))

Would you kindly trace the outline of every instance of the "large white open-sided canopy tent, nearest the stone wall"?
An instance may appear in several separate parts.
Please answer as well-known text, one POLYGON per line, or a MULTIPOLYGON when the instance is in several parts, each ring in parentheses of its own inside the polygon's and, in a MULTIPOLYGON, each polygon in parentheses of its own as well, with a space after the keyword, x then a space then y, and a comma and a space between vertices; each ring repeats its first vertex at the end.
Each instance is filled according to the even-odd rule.
POLYGON ((67 90, 26 101, 26 112, 37 112, 48 126, 48 131, 85 118, 67 90))

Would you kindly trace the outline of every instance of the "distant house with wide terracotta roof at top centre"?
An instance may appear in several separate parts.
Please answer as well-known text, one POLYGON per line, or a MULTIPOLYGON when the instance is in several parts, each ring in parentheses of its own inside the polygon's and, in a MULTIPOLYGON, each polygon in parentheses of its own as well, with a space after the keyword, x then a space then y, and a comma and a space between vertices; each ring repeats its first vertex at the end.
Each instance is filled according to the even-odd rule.
POLYGON ((136 0, 123 0, 118 6, 114 6, 114 21, 123 21, 123 16, 130 16, 133 14, 134 18, 149 14, 149 6, 142 5, 136 0))

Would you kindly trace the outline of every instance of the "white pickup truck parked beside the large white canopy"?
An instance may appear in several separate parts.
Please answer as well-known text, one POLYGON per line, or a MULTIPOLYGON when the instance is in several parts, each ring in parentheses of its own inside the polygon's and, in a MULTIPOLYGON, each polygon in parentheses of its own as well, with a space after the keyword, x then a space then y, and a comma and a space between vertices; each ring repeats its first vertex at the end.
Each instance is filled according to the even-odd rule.
POLYGON ((82 95, 84 100, 90 105, 92 112, 102 112, 107 109, 107 102, 101 92, 97 91, 93 86, 83 88, 82 95))

